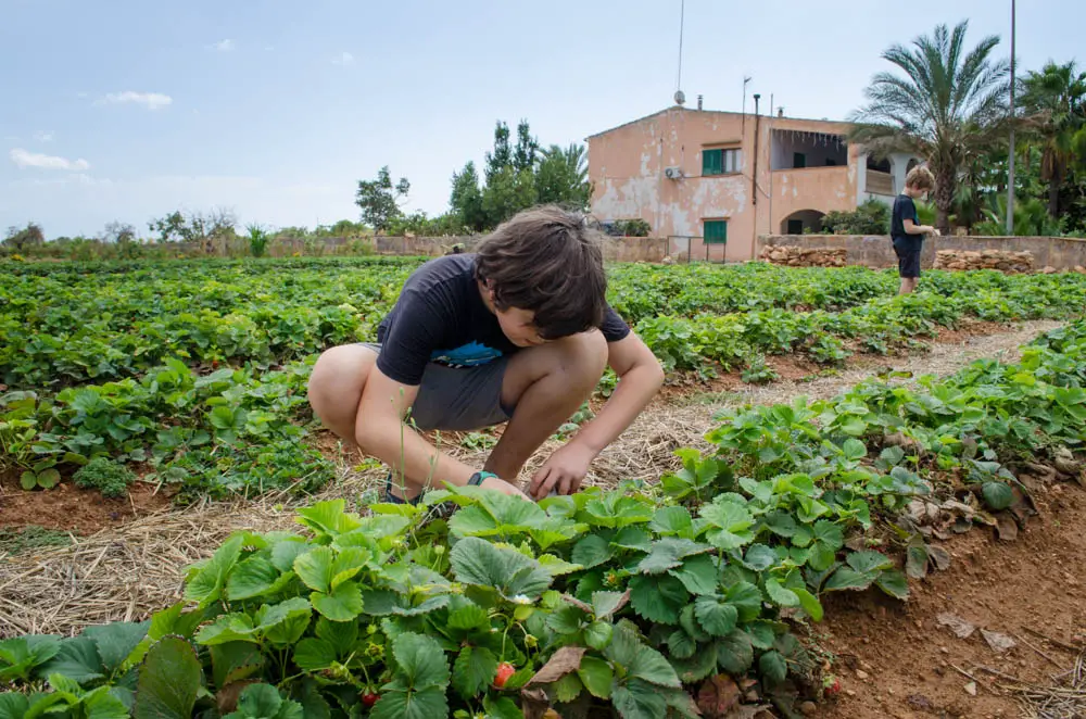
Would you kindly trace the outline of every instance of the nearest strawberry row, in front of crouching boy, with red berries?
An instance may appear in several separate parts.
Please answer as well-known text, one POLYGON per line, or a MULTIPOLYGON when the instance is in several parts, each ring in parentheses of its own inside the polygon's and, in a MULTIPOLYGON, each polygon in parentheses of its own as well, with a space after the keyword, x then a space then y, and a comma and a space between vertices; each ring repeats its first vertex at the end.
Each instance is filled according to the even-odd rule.
POLYGON ((819 696, 833 678, 794 628, 835 592, 908 595, 897 557, 919 577, 935 554, 910 502, 994 522, 1025 457, 1082 471, 1084 384, 1078 321, 1018 364, 729 412, 652 487, 319 503, 299 532, 231 535, 149 621, 0 642, 0 681, 46 688, 0 717, 655 719, 744 676, 819 696))

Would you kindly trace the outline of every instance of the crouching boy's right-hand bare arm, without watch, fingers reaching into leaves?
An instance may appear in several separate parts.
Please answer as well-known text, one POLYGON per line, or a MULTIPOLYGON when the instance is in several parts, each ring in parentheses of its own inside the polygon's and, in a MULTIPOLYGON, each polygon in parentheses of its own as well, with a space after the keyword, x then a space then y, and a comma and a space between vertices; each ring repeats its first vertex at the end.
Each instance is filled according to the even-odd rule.
POLYGON ((656 355, 632 331, 607 348, 607 364, 619 377, 618 387, 599 414, 532 477, 528 493, 535 499, 546 496, 552 489, 560 494, 576 492, 592 461, 633 424, 664 383, 656 355))

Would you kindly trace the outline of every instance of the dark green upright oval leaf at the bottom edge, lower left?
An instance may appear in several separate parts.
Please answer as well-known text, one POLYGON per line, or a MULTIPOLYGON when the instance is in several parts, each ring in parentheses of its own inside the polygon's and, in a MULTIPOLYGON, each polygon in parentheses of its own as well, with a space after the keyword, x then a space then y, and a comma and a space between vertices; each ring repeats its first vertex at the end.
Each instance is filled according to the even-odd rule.
POLYGON ((191 719, 203 671, 184 639, 160 640, 143 658, 136 690, 135 719, 191 719))

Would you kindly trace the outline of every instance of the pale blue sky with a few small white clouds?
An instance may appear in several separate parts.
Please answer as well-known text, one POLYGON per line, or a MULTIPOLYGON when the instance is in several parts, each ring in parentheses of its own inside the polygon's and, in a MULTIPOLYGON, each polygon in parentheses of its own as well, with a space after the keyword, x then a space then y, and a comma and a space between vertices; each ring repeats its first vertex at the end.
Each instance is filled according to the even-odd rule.
MULTIPOLYGON (((679 4, 0 0, 0 228, 212 207, 313 227, 356 219, 386 164, 437 214, 500 118, 566 144, 668 106, 679 4)), ((1082 49, 1086 3, 1018 4, 1021 67, 1082 49)), ((738 110, 749 75, 763 109, 844 118, 887 46, 967 17, 1009 55, 1010 0, 686 0, 682 86, 738 110)))

